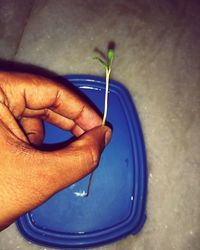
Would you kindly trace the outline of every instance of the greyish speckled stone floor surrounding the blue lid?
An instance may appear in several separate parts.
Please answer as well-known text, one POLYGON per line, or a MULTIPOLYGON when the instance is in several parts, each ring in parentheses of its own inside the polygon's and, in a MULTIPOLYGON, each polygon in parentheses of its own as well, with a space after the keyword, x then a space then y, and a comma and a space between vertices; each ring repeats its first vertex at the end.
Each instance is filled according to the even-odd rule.
MULTIPOLYGON (((100 249, 200 249, 199 13, 198 0, 0 0, 1 68, 102 75, 93 50, 116 43, 112 78, 129 88, 146 140, 148 220, 100 249)), ((45 248, 12 225, 0 250, 14 249, 45 248)))

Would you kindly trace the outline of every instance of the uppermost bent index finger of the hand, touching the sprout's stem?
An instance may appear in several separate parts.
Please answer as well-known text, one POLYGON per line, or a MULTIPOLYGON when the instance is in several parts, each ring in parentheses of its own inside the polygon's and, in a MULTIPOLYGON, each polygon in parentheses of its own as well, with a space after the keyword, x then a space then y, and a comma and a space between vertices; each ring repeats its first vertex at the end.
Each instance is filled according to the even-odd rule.
POLYGON ((22 73, 7 73, 6 77, 9 80, 4 85, 4 89, 7 90, 8 100, 11 106, 15 107, 16 113, 17 109, 18 113, 29 113, 31 116, 32 112, 33 116, 34 114, 37 116, 37 112, 41 110, 50 110, 56 114, 52 116, 54 120, 59 119, 60 116, 63 122, 65 119, 68 123, 69 120, 72 121, 73 129, 77 126, 83 131, 101 125, 101 117, 70 88, 69 83, 66 82, 64 86, 45 77, 22 73), (9 87, 13 91, 9 91, 9 87), (14 96, 10 92, 14 93, 14 96))

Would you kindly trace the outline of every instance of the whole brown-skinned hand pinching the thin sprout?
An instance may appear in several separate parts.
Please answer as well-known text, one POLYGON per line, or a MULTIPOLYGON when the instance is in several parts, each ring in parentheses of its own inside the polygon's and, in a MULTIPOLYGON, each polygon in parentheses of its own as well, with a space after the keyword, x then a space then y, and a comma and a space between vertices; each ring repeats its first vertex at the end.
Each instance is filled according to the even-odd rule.
POLYGON ((0 230, 98 165, 111 138, 79 96, 49 79, 0 72, 0 230), (39 151, 46 120, 78 137, 68 147, 39 151))

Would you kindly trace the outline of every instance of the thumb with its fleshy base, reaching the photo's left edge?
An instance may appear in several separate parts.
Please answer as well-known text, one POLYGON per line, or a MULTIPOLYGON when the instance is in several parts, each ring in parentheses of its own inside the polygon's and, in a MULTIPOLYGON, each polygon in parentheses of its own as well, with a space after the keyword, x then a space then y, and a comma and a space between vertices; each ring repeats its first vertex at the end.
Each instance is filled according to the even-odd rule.
MULTIPOLYGON (((111 139, 111 129, 94 128, 68 147, 43 152, 5 140, 0 171, 0 230, 18 216, 93 171, 111 139)), ((9 137, 11 139, 11 137, 9 137)), ((9 139, 9 140, 10 140, 9 139)))

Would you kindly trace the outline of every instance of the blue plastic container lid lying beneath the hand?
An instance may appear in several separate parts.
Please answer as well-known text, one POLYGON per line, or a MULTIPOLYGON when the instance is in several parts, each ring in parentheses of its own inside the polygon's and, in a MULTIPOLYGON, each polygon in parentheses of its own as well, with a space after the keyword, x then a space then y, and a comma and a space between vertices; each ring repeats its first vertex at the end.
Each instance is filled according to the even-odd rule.
MULTIPOLYGON (((69 75, 103 113, 105 79, 69 75)), ((147 168, 138 115, 125 87, 110 81, 107 121, 113 137, 93 174, 60 191, 40 207, 20 217, 17 224, 29 240, 50 247, 95 247, 136 234, 146 219, 147 168)), ((66 141, 71 134, 45 123, 45 143, 66 141)))

